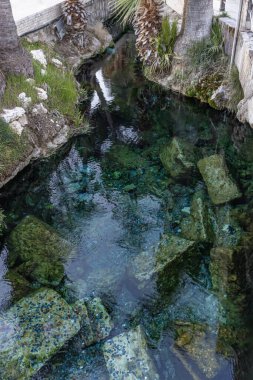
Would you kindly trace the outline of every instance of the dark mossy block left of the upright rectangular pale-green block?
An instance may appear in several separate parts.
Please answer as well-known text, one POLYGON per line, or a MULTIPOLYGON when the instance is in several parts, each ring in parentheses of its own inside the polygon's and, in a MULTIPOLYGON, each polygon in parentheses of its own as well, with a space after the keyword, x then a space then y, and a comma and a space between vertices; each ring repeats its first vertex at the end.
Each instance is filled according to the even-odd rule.
POLYGON ((196 169, 194 146, 178 137, 174 137, 162 150, 160 159, 164 168, 174 178, 190 176, 196 169))

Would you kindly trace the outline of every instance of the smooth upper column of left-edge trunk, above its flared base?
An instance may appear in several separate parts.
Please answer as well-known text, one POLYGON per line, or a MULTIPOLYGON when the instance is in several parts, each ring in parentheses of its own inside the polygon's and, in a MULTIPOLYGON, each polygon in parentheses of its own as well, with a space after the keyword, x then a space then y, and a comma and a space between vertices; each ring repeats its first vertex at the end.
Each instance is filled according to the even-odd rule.
POLYGON ((0 15, 0 50, 15 49, 19 43, 10 0, 0 1, 0 15))

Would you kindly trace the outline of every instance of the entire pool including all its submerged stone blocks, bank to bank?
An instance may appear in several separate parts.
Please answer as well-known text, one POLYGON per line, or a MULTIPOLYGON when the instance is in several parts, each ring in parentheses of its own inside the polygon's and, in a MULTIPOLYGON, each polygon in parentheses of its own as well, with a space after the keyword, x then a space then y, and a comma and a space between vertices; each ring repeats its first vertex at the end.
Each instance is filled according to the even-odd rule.
POLYGON ((252 130, 127 38, 86 74, 90 134, 1 192, 0 378, 252 379, 252 130))

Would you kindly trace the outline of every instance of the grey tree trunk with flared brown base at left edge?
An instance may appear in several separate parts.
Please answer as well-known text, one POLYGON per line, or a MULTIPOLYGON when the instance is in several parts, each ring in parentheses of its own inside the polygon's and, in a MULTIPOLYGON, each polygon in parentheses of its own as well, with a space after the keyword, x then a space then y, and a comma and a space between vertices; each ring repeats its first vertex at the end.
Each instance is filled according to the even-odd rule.
POLYGON ((33 76, 30 54, 19 45, 10 0, 0 0, 0 69, 3 73, 33 76))

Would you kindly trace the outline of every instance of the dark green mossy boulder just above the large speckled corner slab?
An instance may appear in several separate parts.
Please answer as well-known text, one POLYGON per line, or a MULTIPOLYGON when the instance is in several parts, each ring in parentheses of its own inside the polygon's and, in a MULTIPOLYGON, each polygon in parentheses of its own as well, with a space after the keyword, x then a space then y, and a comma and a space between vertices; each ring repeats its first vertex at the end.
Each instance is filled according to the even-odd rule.
POLYGON ((42 285, 58 285, 64 276, 63 260, 71 246, 56 231, 34 216, 27 216, 12 231, 8 240, 9 265, 17 259, 19 273, 42 285))

